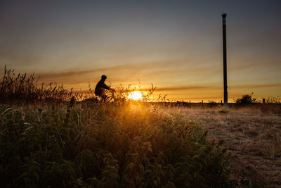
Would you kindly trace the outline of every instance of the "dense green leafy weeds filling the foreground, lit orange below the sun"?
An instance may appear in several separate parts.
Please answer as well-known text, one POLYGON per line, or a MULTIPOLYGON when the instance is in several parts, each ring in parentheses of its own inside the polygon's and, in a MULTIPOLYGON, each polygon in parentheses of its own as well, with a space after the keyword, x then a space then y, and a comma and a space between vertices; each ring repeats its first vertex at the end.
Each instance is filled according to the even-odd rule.
POLYGON ((0 187, 233 187, 221 142, 141 103, 0 106, 0 187))

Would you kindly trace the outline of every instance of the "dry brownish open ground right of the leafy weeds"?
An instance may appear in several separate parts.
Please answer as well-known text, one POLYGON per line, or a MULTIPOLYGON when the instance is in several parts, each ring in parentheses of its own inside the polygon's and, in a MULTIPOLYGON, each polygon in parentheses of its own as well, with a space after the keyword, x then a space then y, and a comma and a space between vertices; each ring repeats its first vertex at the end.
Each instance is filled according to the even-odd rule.
POLYGON ((181 108, 182 115, 223 139, 230 153, 231 178, 245 184, 281 187, 281 114, 253 108, 181 108))

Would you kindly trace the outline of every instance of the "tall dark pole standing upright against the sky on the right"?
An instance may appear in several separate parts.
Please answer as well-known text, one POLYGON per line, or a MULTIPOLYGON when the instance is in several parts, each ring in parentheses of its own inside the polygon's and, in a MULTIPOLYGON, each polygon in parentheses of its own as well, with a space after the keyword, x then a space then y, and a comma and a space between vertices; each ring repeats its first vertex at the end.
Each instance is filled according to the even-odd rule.
POLYGON ((226 70, 226 13, 223 17, 223 106, 228 108, 228 76, 226 70))

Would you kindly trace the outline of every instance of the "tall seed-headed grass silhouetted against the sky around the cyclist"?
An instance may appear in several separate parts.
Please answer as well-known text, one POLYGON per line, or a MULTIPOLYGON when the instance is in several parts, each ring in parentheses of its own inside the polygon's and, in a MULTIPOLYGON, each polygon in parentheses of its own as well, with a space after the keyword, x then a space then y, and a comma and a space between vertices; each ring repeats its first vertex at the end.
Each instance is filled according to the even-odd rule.
MULTIPOLYGON (((94 94, 91 84, 86 91, 76 91, 73 89, 67 90, 63 84, 58 85, 56 82, 48 84, 39 84, 39 78, 34 74, 15 74, 14 70, 4 67, 4 75, 0 82, 0 101, 98 101, 98 97, 94 94)), ((120 85, 116 87, 116 92, 105 91, 107 94, 107 101, 124 102, 127 96, 136 88, 123 87, 120 85)), ((149 101, 150 96, 156 87, 153 87, 148 92, 142 92, 142 101, 149 101)), ((159 96, 160 97, 160 96, 159 96)))

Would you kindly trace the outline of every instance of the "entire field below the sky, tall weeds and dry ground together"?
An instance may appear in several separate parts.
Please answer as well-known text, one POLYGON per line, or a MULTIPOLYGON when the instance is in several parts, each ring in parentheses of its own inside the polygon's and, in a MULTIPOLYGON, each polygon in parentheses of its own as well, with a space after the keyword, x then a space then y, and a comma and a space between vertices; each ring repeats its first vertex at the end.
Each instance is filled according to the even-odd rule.
POLYGON ((280 103, 149 103, 154 87, 101 102, 36 81, 1 81, 0 187, 281 186, 280 103))

